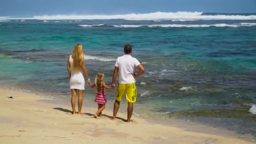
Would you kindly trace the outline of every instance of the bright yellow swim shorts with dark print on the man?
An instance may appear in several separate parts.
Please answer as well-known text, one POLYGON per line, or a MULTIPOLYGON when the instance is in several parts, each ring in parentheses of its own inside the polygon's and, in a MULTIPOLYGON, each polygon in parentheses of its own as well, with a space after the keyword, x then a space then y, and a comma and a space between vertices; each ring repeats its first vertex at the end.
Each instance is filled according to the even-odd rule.
POLYGON ((117 101, 122 101, 123 94, 126 95, 127 102, 136 102, 137 88, 136 83, 118 84, 117 86, 117 101))

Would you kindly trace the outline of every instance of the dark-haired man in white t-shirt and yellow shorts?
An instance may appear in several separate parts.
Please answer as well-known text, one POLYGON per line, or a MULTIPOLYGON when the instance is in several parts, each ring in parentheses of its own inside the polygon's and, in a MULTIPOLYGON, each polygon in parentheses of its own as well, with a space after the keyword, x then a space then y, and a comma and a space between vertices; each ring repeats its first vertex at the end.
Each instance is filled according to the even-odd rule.
POLYGON ((131 115, 133 113, 133 103, 136 102, 137 88, 136 88, 136 78, 140 77, 145 71, 142 64, 135 58, 131 56, 132 46, 127 44, 124 46, 125 55, 117 58, 115 63, 115 69, 112 76, 112 87, 115 86, 115 80, 117 74, 119 73, 119 83, 117 86, 117 96, 114 104, 113 110, 113 120, 117 116, 117 112, 120 106, 120 101, 123 98, 123 94, 126 95, 126 101, 128 102, 127 109, 127 122, 131 121, 131 115), (135 75, 134 67, 139 69, 137 75, 135 75))

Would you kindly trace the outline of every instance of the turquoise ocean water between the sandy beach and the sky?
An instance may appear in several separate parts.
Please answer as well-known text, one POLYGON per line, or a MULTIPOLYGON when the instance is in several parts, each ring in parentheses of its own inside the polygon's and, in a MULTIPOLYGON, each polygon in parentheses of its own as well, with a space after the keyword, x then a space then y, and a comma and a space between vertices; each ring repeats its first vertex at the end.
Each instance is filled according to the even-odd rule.
MULTIPOLYGON (((104 72, 107 84, 130 43, 146 69, 137 80, 138 115, 255 134, 256 14, 194 14, 0 17, 0 83, 69 97, 66 65, 76 43, 91 79, 104 72)), ((86 85, 92 102, 94 93, 86 85)), ((112 105, 115 91, 107 98, 112 105)))

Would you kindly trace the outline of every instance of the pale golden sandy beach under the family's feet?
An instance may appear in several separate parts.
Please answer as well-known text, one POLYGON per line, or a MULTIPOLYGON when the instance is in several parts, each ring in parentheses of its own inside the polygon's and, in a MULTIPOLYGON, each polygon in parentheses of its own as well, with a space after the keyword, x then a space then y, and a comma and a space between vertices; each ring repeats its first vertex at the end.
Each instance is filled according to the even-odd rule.
POLYGON ((241 139, 184 131, 181 128, 149 123, 126 115, 110 120, 104 110, 98 119, 96 108, 84 108, 83 115, 72 115, 66 105, 41 102, 47 98, 20 91, 0 89, 0 141, 3 144, 253 144, 241 139), (12 96, 13 99, 8 98, 12 96))

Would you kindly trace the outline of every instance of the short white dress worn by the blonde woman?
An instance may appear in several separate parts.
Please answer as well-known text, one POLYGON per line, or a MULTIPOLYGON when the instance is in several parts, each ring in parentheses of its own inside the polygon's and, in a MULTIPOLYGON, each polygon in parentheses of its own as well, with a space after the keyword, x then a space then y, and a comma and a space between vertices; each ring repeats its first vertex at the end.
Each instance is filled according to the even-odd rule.
MULTIPOLYGON (((71 68, 72 68, 73 61, 74 60, 72 58, 72 55, 70 55, 69 56, 69 64, 71 65, 71 68)), ((85 89, 85 79, 84 79, 81 71, 76 72, 76 73, 71 72, 69 86, 70 86, 70 89, 79 89, 79 90, 85 89)))

